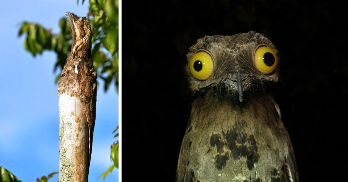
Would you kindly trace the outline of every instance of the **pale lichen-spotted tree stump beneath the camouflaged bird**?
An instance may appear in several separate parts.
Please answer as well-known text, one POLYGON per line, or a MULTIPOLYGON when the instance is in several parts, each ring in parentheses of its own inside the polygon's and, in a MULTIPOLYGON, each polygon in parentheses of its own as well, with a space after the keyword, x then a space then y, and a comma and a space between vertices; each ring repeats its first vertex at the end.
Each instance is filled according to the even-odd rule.
POLYGON ((71 97, 70 94, 62 93, 58 97, 59 165, 63 166, 59 173, 60 176, 69 176, 72 175, 69 173, 73 171, 73 178, 77 179, 77 177, 85 176, 83 175, 85 173, 88 174, 89 130, 86 127, 87 119, 83 110, 84 106, 78 98, 71 97), (82 162, 83 160, 85 162, 82 162))

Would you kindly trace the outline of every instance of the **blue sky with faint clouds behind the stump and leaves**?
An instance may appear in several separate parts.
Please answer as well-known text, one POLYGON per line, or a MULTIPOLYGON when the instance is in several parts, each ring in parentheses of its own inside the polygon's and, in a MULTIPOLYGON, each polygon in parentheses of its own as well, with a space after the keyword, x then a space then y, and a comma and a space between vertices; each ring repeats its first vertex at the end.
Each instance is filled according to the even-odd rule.
MULTIPOLYGON (((66 12, 86 16, 88 1, 76 0, 1 1, 0 43, 0 166, 23 182, 35 181, 59 169, 59 118, 57 84, 53 71, 56 55, 44 52, 33 57, 23 48, 24 36, 17 36, 22 21, 36 22, 53 33, 66 12)), ((89 181, 96 181, 109 166, 112 131, 118 125, 118 94, 107 92, 98 80, 96 124, 89 181)), ((58 174, 51 182, 58 181, 58 174)), ((98 181, 103 181, 99 179, 98 181)), ((118 169, 105 182, 118 181, 118 169)))

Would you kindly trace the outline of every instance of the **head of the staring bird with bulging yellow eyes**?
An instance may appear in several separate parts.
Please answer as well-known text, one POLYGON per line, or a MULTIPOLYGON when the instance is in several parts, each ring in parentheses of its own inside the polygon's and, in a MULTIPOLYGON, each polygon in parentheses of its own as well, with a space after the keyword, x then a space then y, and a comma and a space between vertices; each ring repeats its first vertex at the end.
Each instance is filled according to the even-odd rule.
POLYGON ((254 31, 198 39, 187 54, 187 73, 193 92, 214 87, 229 98, 255 94, 278 81, 278 50, 254 31))

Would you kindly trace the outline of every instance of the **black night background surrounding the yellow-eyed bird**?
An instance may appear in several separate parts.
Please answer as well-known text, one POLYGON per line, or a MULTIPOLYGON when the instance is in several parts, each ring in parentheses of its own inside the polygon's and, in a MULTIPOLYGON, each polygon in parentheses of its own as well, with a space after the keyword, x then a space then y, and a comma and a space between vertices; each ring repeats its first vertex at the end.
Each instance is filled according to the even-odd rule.
POLYGON ((250 30, 279 50, 275 97, 300 180, 346 179, 345 11, 335 1, 123 1, 124 180, 175 180, 191 107, 185 54, 205 35, 250 30))

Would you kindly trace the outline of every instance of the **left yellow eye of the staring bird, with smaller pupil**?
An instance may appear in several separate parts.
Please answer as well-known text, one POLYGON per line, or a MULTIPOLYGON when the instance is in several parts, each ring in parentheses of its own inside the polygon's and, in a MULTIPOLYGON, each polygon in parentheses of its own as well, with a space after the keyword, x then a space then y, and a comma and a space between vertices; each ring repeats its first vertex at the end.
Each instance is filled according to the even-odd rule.
POLYGON ((196 53, 190 60, 190 71, 198 80, 208 79, 213 69, 213 58, 204 51, 196 53))

